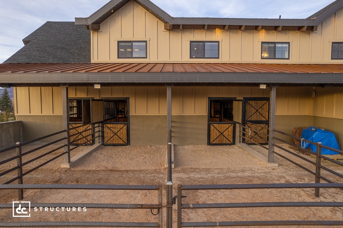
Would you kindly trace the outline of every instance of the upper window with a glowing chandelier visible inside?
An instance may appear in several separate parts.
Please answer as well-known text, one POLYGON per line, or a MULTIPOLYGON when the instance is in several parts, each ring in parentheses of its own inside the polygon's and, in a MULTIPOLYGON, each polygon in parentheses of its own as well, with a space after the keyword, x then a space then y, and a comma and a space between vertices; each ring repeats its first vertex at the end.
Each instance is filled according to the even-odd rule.
POLYGON ((262 42, 261 59, 289 59, 289 42, 262 42))

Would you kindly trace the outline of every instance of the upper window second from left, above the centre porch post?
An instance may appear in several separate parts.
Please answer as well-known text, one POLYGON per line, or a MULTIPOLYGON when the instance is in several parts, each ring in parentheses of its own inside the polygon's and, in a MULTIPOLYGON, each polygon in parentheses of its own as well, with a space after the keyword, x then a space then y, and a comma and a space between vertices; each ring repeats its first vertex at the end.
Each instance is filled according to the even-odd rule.
POLYGON ((219 59, 219 41, 190 41, 191 59, 219 59))

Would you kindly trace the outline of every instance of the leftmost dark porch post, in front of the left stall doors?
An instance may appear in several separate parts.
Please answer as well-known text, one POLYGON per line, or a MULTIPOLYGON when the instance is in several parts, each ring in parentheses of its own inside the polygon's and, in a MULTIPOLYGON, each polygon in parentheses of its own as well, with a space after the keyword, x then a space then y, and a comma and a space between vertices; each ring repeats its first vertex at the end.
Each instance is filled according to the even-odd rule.
POLYGON ((63 137, 66 139, 66 146, 64 147, 64 164, 70 164, 70 137, 69 137, 69 94, 68 85, 63 85, 62 87, 62 105, 63 105, 63 137))

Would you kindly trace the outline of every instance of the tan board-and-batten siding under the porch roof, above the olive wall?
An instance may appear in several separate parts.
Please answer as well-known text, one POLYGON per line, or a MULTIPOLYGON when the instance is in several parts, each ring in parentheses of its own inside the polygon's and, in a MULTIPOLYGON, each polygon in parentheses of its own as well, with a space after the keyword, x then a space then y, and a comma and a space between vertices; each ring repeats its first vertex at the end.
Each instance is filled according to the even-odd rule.
MULTIPOLYGON (((62 115, 60 87, 15 87, 16 115, 62 115)), ((172 87, 173 115, 207 115, 209 97, 269 97, 269 88, 172 87)), ((70 87, 69 98, 130 98, 130 115, 166 115, 166 87, 70 87)), ((276 115, 343 119, 343 88, 277 87, 276 115), (312 97, 312 92, 316 96, 312 97)))

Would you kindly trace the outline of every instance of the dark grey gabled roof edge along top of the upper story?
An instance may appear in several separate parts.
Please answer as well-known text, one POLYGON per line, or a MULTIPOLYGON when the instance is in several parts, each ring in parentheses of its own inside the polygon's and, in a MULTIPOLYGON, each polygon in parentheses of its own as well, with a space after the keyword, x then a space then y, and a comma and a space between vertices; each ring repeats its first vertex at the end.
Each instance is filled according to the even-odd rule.
MULTIPOLYGON (((76 25, 100 24, 118 11, 130 0, 111 0, 89 17, 76 17, 76 25)), ((133 0, 165 24, 174 25, 255 25, 255 26, 317 26, 334 12, 343 7, 343 0, 336 0, 327 7, 306 19, 267 19, 267 18, 211 18, 211 17, 172 17, 150 0, 133 0)))

